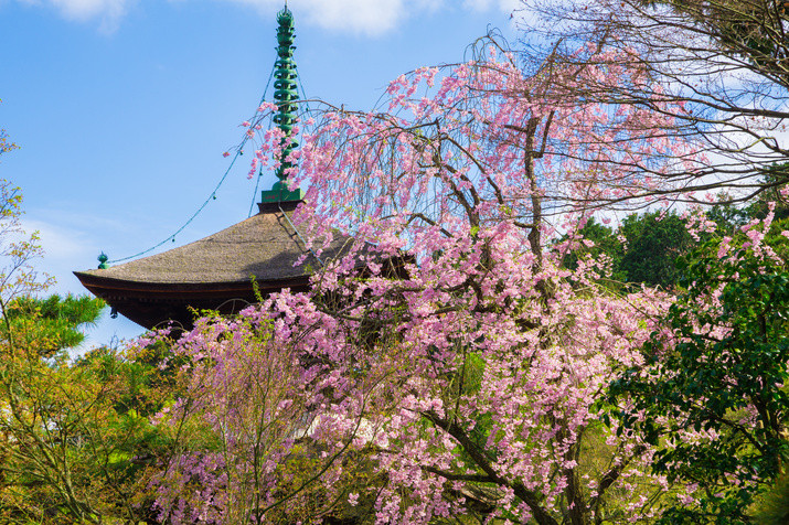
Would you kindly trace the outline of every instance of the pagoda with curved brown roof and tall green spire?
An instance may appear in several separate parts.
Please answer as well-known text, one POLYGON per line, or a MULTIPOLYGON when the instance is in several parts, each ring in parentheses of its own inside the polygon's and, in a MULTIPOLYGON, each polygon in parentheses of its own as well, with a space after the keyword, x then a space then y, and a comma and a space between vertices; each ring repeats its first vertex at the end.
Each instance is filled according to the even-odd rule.
POLYGON ((277 22, 274 122, 285 133, 277 182, 262 192, 257 215, 222 232, 113 267, 102 255, 98 269, 75 271, 83 286, 104 299, 114 313, 147 329, 170 323, 189 329, 201 310, 230 314, 282 288, 306 291, 311 272, 326 259, 342 254, 349 238, 337 236, 319 259, 290 219, 303 192, 288 190, 285 181, 295 168, 288 156, 298 147, 292 137, 298 99, 294 17, 287 4, 277 22), (301 265, 297 265, 299 259, 301 265))

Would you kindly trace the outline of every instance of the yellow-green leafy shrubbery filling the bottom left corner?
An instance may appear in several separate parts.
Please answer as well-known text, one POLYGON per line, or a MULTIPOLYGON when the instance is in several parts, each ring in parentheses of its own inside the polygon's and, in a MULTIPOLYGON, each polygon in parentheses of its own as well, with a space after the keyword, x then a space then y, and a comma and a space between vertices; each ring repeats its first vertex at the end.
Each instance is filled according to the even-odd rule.
POLYGON ((13 354, 0 366, 0 519, 142 518, 150 505, 136 503, 145 500, 147 459, 168 441, 128 408, 153 397, 140 386, 139 367, 110 349, 76 363, 13 354))

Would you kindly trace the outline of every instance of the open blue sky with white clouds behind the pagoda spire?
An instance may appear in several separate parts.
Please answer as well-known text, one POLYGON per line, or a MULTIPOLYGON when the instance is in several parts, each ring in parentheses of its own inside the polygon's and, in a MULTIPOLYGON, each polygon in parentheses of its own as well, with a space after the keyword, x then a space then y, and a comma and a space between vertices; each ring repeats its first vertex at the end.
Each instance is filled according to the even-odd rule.
MULTIPOLYGON (((290 0, 308 97, 370 109, 386 84, 458 62, 499 28, 514 39, 518 0, 290 0)), ((0 128, 21 148, 0 178, 25 195, 53 291, 71 274, 175 232, 227 169, 239 124, 275 60, 281 0, 0 0, 0 128)), ((271 89, 269 88, 270 99, 271 89)), ((255 182, 237 163, 217 199, 160 250, 247 217, 255 182)), ((274 175, 263 181, 265 188, 274 175)), ((141 332, 105 314, 90 344, 141 332)))

